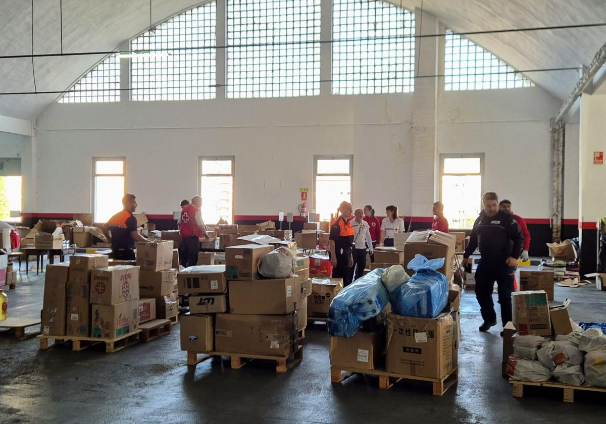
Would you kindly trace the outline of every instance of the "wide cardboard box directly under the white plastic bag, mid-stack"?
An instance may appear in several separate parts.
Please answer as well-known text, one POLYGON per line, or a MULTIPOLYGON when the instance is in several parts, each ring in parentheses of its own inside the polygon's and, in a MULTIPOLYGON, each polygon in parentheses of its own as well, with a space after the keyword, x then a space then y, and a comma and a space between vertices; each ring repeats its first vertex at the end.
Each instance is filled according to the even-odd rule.
POLYGON ((230 281, 230 314, 288 314, 301 299, 301 279, 230 281))

